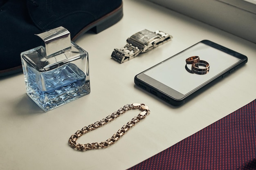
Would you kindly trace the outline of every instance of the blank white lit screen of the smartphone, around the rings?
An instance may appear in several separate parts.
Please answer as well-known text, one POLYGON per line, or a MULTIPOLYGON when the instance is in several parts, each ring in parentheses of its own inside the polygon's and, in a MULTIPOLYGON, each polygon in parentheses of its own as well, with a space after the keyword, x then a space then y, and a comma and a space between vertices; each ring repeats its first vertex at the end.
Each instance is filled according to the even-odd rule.
MULTIPOLYGON (((240 59, 202 42, 144 72, 149 77, 186 95, 201 84, 236 64, 240 59), (207 74, 199 75, 186 70, 186 59, 199 56, 210 64, 207 74)), ((187 64, 191 68, 190 64, 187 64)))

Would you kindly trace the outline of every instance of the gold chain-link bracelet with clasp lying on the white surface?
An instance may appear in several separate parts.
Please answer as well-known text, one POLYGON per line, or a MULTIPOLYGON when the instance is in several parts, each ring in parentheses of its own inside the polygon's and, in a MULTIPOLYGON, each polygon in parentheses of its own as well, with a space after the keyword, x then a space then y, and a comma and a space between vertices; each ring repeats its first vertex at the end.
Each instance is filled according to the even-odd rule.
POLYGON ((150 113, 150 110, 148 110, 148 106, 145 104, 127 104, 124 107, 120 108, 116 112, 112 113, 111 115, 108 115, 106 118, 101 119, 100 121, 96 121, 94 124, 90 124, 89 126, 83 127, 81 130, 78 130, 70 137, 68 140, 70 143, 70 146, 76 150, 92 150, 92 149, 99 149, 99 148, 107 148, 108 146, 115 144, 117 140, 120 139, 132 126, 134 126, 136 123, 138 123, 141 119, 144 119, 146 115, 150 113), (77 139, 84 135, 85 133, 88 133, 92 130, 95 130, 105 124, 108 124, 108 122, 114 120, 115 118, 119 117, 121 114, 125 113, 127 110, 131 109, 140 109, 142 110, 139 115, 132 118, 130 121, 127 122, 121 129, 119 129, 112 137, 107 139, 106 141, 102 142, 94 142, 94 143, 88 143, 88 144, 79 144, 77 143, 77 139))

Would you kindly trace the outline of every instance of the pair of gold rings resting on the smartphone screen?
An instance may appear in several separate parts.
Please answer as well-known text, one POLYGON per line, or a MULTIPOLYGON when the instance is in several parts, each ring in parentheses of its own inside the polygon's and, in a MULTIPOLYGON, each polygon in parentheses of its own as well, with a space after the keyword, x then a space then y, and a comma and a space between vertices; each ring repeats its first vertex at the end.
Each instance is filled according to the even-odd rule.
POLYGON ((210 64, 204 60, 200 60, 198 56, 192 56, 187 58, 186 64, 192 65, 191 73, 206 74, 209 72, 209 69, 210 69, 210 64))

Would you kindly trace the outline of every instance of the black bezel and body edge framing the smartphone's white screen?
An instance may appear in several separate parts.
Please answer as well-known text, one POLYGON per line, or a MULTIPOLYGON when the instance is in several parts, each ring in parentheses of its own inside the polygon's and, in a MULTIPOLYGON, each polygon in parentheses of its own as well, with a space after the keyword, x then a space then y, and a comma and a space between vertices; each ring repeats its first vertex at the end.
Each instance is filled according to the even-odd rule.
POLYGON ((193 98, 193 96, 198 95, 199 93, 204 91, 209 86, 212 86, 214 83, 218 82, 218 79, 222 79, 225 75, 227 75, 228 73, 231 73, 232 71, 234 71, 238 67, 242 66, 248 60, 245 55, 240 54, 240 53, 238 53, 236 51, 233 51, 231 49, 228 49, 228 48, 226 48, 224 46, 221 46, 219 44, 216 44, 214 42, 211 42, 209 40, 202 40, 198 43, 194 44, 193 46, 190 46, 189 48, 181 51, 180 53, 177 53, 177 54, 173 55, 172 57, 169 57, 168 59, 160 62, 159 64, 156 64, 155 66, 150 67, 147 70, 137 74, 134 78, 135 84, 138 85, 141 88, 144 88, 144 90, 152 93, 153 95, 159 97, 160 99, 163 99, 164 101, 168 102, 169 104, 172 104, 174 106, 179 106, 179 105, 184 104, 189 99, 193 98), (220 51, 228 53, 229 55, 232 55, 234 57, 239 58, 240 61, 237 62, 236 64, 230 66, 229 68, 226 68, 221 73, 212 77, 211 79, 204 82, 200 86, 194 88, 192 91, 190 91, 189 93, 186 93, 185 95, 183 95, 182 93, 174 90, 173 88, 170 88, 169 86, 166 86, 165 84, 162 84, 161 82, 158 82, 157 80, 149 77, 148 75, 144 74, 144 72, 154 68, 155 66, 158 66, 159 64, 162 64, 162 63, 166 62, 167 60, 171 60, 171 58, 179 55, 180 53, 182 53, 183 51, 186 51, 189 48, 192 48, 193 46, 195 46, 198 43, 204 43, 204 44, 209 45, 209 46, 211 46, 215 49, 218 49, 220 51))

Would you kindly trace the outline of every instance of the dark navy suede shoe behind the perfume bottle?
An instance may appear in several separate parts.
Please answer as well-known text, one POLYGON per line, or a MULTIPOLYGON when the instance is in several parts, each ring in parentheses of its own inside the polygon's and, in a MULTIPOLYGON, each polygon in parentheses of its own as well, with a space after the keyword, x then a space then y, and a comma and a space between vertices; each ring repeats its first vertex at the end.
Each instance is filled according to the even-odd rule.
POLYGON ((99 33, 123 17, 122 0, 0 1, 0 76, 22 71, 20 53, 44 45, 34 34, 63 26, 72 41, 99 33))

